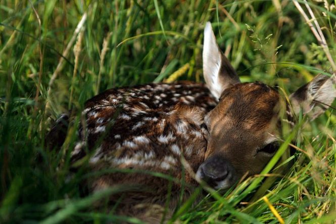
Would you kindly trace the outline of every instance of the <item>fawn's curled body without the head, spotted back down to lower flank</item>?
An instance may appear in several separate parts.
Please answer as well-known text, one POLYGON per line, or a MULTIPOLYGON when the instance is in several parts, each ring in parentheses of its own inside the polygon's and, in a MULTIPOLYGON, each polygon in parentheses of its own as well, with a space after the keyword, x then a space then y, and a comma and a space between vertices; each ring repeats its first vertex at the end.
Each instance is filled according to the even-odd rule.
MULTIPOLYGON (((136 169, 181 178, 181 156, 194 172, 204 160, 207 130, 202 124, 216 104, 201 83, 109 89, 86 102, 86 127, 80 128, 82 141, 72 152, 72 161, 88 156, 93 170, 136 169)), ((196 183, 188 173, 185 181, 196 183)), ((100 177, 92 188, 117 184, 162 186, 157 182, 158 178, 148 174, 114 173, 100 177)))

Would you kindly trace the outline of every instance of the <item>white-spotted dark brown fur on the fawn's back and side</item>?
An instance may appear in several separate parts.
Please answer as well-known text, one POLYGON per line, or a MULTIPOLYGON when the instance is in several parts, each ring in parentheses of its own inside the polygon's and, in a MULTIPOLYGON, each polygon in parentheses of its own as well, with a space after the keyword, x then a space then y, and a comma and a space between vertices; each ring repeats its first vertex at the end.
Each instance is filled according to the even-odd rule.
MULTIPOLYGON (((171 152, 179 157, 188 146, 185 143, 204 138, 200 128, 202 118, 216 104, 201 83, 109 89, 86 102, 83 111, 86 129, 79 131, 86 135, 81 136, 82 141, 75 147, 81 150, 73 152, 72 160, 85 156, 86 147, 88 152, 101 148, 94 161, 114 161, 111 166, 120 163, 118 160, 127 160, 133 165, 146 164, 139 156, 134 157, 139 149, 143 155, 154 155, 158 162, 171 152), (84 146, 85 139, 87 145, 84 146), (163 148, 171 150, 162 151, 163 148)), ((195 153, 201 153, 200 150, 195 153)))

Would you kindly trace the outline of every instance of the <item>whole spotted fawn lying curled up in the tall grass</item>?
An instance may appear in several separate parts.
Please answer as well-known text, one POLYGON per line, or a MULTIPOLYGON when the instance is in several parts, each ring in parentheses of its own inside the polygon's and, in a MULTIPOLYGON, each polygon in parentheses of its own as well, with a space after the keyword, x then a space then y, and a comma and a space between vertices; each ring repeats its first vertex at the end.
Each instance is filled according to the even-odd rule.
MULTIPOLYGON (((334 76, 316 76, 293 93, 290 102, 261 82, 241 83, 209 22, 204 30, 203 72, 206 84, 121 87, 88 100, 72 161, 87 158, 91 170, 146 170, 184 178, 188 186, 184 197, 200 180, 214 189, 227 189, 246 173, 258 174, 278 149, 281 107, 293 122, 300 110, 315 118, 336 97, 334 76), (182 157, 189 165, 184 174, 182 157)), ((124 195, 118 213, 160 221, 162 210, 151 210, 164 207, 168 180, 115 172, 93 178, 88 186, 96 191, 120 184, 135 187, 124 195)), ((179 183, 171 186, 170 211, 180 189, 179 183)), ((111 201, 118 198, 112 196, 111 201)))

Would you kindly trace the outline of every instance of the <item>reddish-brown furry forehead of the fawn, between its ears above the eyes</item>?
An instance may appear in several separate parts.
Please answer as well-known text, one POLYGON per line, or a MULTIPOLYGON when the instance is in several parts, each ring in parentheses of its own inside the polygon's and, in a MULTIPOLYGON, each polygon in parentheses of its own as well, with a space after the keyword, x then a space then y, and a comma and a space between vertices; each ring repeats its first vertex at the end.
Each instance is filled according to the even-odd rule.
MULTIPOLYGON (((212 123, 226 123, 226 127, 261 130, 268 128, 279 112, 279 94, 263 83, 236 84, 223 92, 212 123)), ((217 125, 216 125, 217 126, 217 125)))

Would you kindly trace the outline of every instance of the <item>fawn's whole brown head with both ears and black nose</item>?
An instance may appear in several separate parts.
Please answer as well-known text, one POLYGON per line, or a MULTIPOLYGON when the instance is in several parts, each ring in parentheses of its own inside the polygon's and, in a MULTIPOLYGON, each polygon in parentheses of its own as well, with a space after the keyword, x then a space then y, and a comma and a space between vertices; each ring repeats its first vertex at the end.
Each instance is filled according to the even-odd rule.
MULTIPOLYGON (((208 144, 196 178, 215 189, 226 189, 246 173, 260 173, 275 154, 279 113, 285 104, 277 90, 266 84, 240 83, 209 22, 204 30, 203 72, 219 102, 205 116, 208 144)), ((319 75, 300 87, 290 97, 294 114, 301 108, 312 118, 321 114, 336 97, 334 83, 334 76, 319 75)))

